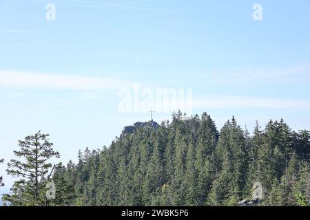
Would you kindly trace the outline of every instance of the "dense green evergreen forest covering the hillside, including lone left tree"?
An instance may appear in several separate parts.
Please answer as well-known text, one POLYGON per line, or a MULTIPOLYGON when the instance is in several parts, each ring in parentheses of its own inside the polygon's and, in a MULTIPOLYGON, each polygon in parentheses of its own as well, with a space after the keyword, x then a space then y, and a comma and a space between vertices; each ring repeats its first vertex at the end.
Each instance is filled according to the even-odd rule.
POLYGON ((210 115, 139 126, 109 147, 79 151, 78 162, 58 164, 48 176, 48 135, 19 141, 8 174, 21 177, 3 202, 10 206, 236 206, 263 187, 260 206, 309 206, 309 131, 283 121, 257 124, 249 134, 233 117, 220 131, 210 115), (56 198, 45 198, 54 181, 56 198))

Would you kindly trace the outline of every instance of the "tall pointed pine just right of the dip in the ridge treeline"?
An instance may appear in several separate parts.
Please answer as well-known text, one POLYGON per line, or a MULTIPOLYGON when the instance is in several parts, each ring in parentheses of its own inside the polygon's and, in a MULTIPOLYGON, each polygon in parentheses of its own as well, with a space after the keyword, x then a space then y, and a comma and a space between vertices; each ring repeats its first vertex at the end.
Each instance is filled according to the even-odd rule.
POLYGON ((217 157, 221 171, 210 201, 216 205, 235 206, 245 194, 248 156, 244 133, 234 117, 224 125, 220 133, 217 157), (219 193, 220 197, 214 195, 215 193, 219 193))

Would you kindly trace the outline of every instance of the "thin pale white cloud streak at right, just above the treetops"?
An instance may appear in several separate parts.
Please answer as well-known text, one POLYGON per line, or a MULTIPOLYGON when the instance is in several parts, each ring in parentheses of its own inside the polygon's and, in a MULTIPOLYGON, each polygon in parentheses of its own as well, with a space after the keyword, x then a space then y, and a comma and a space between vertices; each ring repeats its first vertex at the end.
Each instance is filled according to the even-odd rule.
POLYGON ((210 96, 193 100, 194 108, 209 109, 309 109, 309 100, 210 96))

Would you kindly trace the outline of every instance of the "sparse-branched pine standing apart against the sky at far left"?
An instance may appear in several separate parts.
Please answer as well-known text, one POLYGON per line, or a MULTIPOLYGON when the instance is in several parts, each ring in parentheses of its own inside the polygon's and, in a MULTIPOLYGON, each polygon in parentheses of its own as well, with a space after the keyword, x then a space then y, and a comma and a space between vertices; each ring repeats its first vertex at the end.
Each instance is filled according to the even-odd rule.
POLYGON ((58 152, 52 148, 48 134, 40 131, 19 140, 20 151, 14 154, 23 160, 11 159, 6 170, 8 175, 21 177, 15 181, 12 193, 3 197, 4 201, 21 206, 41 206, 44 204, 45 175, 52 167, 48 163, 51 157, 59 158, 58 152))

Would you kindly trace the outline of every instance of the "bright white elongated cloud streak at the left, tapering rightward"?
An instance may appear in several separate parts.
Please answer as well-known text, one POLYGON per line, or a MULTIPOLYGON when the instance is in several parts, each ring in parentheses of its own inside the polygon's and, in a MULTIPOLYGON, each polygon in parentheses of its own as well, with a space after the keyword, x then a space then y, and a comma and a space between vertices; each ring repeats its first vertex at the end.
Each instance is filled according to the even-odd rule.
POLYGON ((127 80, 116 78, 0 70, 0 86, 32 87, 40 89, 99 90, 121 89, 123 87, 132 86, 132 83, 127 80))

